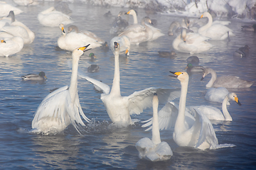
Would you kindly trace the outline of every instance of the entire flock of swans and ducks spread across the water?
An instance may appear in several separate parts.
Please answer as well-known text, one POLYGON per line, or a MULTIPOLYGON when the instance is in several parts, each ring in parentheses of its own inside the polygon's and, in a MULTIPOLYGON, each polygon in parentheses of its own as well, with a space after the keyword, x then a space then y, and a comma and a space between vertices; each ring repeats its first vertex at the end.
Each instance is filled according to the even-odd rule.
MULTIPOLYGON (((62 9, 68 11, 66 7, 62 9)), ((22 50, 23 45, 32 43, 35 38, 35 33, 23 23, 16 21, 14 13, 18 15, 21 12, 16 8, 11 8, 8 13, 0 10, 0 16, 5 16, 0 22, 0 55, 2 56, 14 55, 22 50)), ((142 91, 134 91, 129 96, 121 96, 119 53, 124 52, 126 56, 129 56, 132 49, 131 45, 156 40, 164 33, 150 24, 152 21, 149 17, 142 18, 141 23, 138 23, 137 14, 133 9, 119 13, 110 30, 110 33, 114 35, 114 38, 110 40, 110 49, 114 54, 114 77, 110 88, 102 81, 87 77, 78 69, 80 56, 84 52, 92 48, 108 47, 107 42, 90 31, 79 30, 75 25, 69 26, 68 32, 66 32, 64 27, 73 23, 67 13, 57 11, 54 6, 38 13, 38 21, 42 26, 60 28, 61 35, 57 40, 58 47, 72 52, 72 66, 70 66, 72 67, 72 74, 69 86, 55 89, 38 106, 32 121, 33 132, 45 134, 51 131, 61 132, 71 124, 82 134, 82 126, 85 126, 82 118, 87 123, 90 122, 90 119, 82 111, 78 96, 78 77, 82 77, 93 84, 98 91, 102 91, 100 98, 110 120, 115 125, 122 127, 133 125, 138 120, 132 119, 132 114, 139 115, 145 108, 153 108, 153 117, 145 120, 144 125, 142 125, 143 128, 148 127, 146 130, 152 130, 151 140, 144 137, 135 145, 139 151, 139 158, 151 161, 171 158, 173 155, 171 147, 167 142, 161 142, 159 130, 173 130, 174 142, 180 147, 218 149, 235 146, 218 144, 210 120, 232 121, 227 105, 230 104, 229 101, 235 101, 239 105, 241 103, 238 96, 226 88, 249 88, 254 83, 253 81, 245 81, 233 76, 217 77, 211 68, 193 66, 199 61, 198 58, 191 57, 188 59, 187 72, 171 72, 170 76, 178 79, 181 82, 181 87, 176 89, 149 87, 142 91), (121 16, 124 15, 132 15, 134 23, 129 25, 128 22, 122 21, 121 16), (189 72, 201 72, 203 75, 201 80, 211 74, 211 79, 206 84, 206 87, 210 89, 208 89, 205 98, 208 101, 222 103, 222 111, 213 106, 186 106, 189 72), (179 98, 178 104, 173 102, 176 98, 179 98), (159 103, 165 104, 160 111, 158 111, 159 103)), ((176 35, 172 43, 174 50, 186 53, 204 52, 212 47, 209 40, 225 40, 234 36, 233 31, 225 26, 227 23, 213 23, 213 18, 208 12, 203 13, 201 18, 203 17, 208 18, 208 23, 200 28, 196 28, 196 26, 188 28, 191 23, 186 18, 181 23, 176 21, 171 24, 168 34, 176 35)), ((248 54, 247 50, 249 47, 245 45, 237 53, 244 57, 243 55, 248 54)), ((176 53, 159 52, 159 55, 175 58, 176 53)), ((93 58, 95 55, 91 53, 90 57, 93 58)), ((91 66, 88 67, 88 72, 97 72, 98 69, 97 65, 91 66)), ((47 78, 44 72, 40 72, 39 74, 24 75, 22 79, 42 81, 47 78)))

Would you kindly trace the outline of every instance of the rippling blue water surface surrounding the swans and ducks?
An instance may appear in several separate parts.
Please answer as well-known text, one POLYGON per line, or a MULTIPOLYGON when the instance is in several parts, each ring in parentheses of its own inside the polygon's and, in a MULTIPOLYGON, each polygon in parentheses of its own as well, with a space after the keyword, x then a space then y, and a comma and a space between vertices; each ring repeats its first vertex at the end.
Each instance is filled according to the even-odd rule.
MULTIPOLYGON (((20 7, 24 13, 16 16, 36 33, 31 45, 9 58, 0 57, 1 103, 0 103, 0 165, 2 169, 255 169, 256 167, 256 118, 255 118, 255 84, 250 89, 235 90, 242 106, 234 102, 228 108, 233 122, 213 122, 220 144, 231 143, 233 148, 201 151, 188 147, 178 147, 172 139, 172 131, 161 131, 161 140, 171 146, 174 156, 166 162, 148 162, 139 160, 135 143, 142 137, 151 137, 151 132, 144 132, 142 123, 128 128, 116 128, 111 125, 100 94, 93 90, 92 84, 78 79, 80 103, 85 115, 92 119, 87 124, 84 136, 72 126, 58 135, 36 135, 30 133, 31 122, 36 108, 50 89, 70 84, 71 71, 67 61, 70 52, 55 50, 59 28, 46 28, 39 25, 36 18, 53 3, 39 6, 20 7), (28 73, 44 71, 48 77, 44 83, 21 81, 21 76, 28 73)), ((80 29, 91 30, 100 38, 110 42, 109 34, 112 19, 103 18, 103 14, 112 11, 128 11, 128 8, 104 8, 85 4, 70 4, 73 20, 80 29)), ((139 20, 145 16, 144 10, 137 9, 139 20)), ((174 16, 154 15, 158 19, 157 28, 167 33, 169 25, 181 18, 174 16)), ((132 21, 132 19, 131 19, 132 21)), ((212 42, 215 47, 208 52, 198 54, 200 64, 212 67, 218 76, 230 74, 249 81, 256 79, 255 74, 255 33, 240 30, 244 25, 240 21, 232 21, 230 28, 235 38, 230 42, 212 42), (233 52, 245 44, 251 47, 249 57, 234 60, 233 52)), ((161 58, 159 50, 170 51, 174 38, 164 36, 155 42, 132 46, 130 57, 120 56, 120 74, 122 96, 151 86, 180 86, 177 79, 169 77, 169 71, 182 71, 186 67, 186 59, 190 55, 178 53, 176 59, 161 58)), ((111 51, 91 50, 97 60, 91 62, 81 57, 80 69, 87 72, 90 64, 99 64, 100 72, 87 73, 89 77, 112 85, 114 74, 114 57, 111 51)), ((89 55, 89 52, 85 56, 89 55)), ((205 101, 206 83, 210 77, 200 81, 201 74, 190 77, 187 105, 220 104, 205 101)), ((178 100, 176 101, 178 102, 178 100)), ((162 106, 159 106, 161 108, 162 106)), ((132 118, 147 120, 151 118, 151 108, 141 115, 132 118)))

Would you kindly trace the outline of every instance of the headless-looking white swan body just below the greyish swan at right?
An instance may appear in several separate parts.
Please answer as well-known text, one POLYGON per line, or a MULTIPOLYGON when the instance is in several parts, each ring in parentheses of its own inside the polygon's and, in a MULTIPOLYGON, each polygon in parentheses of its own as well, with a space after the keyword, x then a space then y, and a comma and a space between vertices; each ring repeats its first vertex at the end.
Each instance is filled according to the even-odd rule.
MULTIPOLYGON (((229 91, 225 87, 218 87, 218 88, 211 87, 206 91, 205 98, 206 98, 206 101, 223 103, 225 96, 227 96, 228 94, 229 94, 229 91)), ((228 101, 227 101, 227 105, 230 105, 228 101)))

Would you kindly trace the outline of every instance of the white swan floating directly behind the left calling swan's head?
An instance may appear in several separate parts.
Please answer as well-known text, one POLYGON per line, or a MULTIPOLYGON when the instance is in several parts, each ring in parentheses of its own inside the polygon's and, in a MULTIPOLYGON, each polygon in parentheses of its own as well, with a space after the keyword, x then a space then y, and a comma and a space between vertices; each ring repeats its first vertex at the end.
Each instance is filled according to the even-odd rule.
POLYGON ((62 23, 60 23, 59 28, 62 35, 58 38, 58 47, 63 50, 73 51, 74 49, 87 44, 90 44, 90 48, 95 48, 104 44, 103 40, 90 31, 85 31, 85 33, 76 33, 75 31, 66 33, 62 23))

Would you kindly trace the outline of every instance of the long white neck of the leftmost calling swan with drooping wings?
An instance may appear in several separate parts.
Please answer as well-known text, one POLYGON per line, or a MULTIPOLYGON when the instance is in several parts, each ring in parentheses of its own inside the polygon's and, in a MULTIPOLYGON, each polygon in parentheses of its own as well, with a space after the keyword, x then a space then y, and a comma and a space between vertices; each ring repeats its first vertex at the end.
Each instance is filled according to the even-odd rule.
POLYGON ((79 58, 73 57, 70 88, 68 90, 70 92, 72 103, 75 102, 75 95, 78 93, 78 62, 79 62, 79 58))

